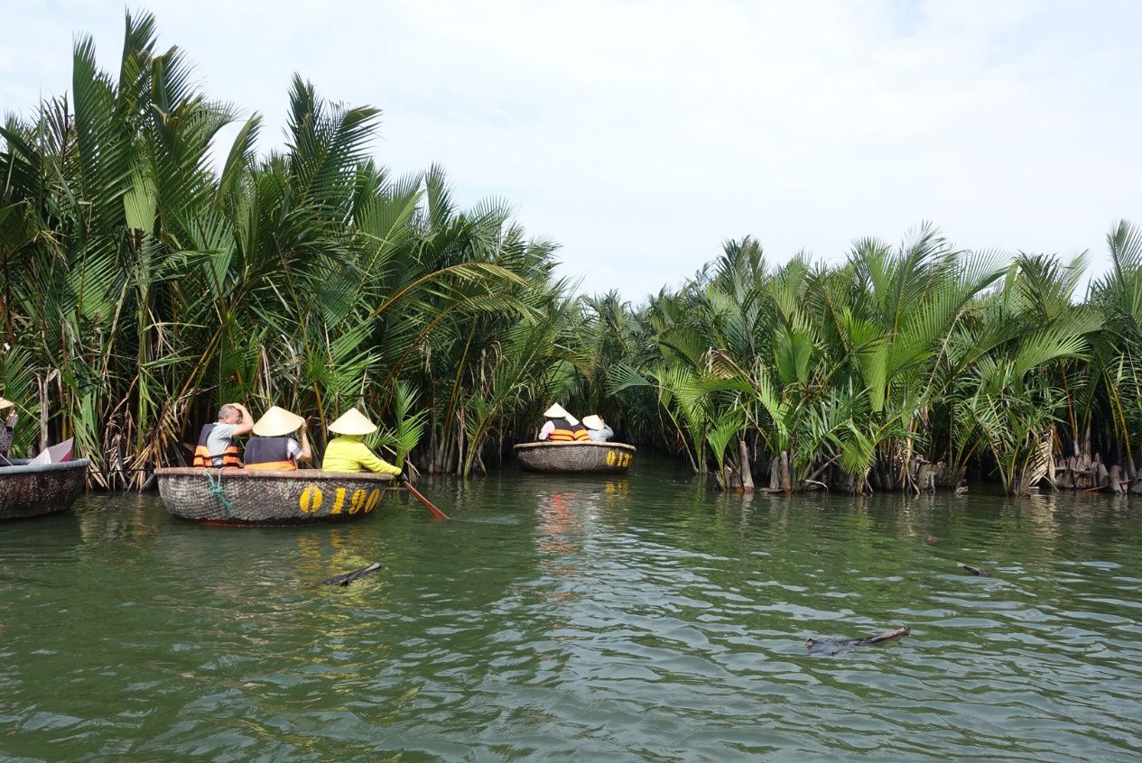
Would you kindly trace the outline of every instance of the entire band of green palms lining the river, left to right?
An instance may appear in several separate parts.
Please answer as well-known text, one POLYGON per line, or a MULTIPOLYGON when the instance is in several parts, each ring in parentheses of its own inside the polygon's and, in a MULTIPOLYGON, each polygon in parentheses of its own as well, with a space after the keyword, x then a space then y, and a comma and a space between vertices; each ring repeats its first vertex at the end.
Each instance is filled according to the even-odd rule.
POLYGON ((188 463, 222 403, 319 424, 357 405, 385 422, 375 446, 467 476, 558 400, 730 489, 1139 485, 1142 234, 1126 221, 1089 284, 1086 255, 965 251, 920 226, 829 261, 730 241, 632 303, 577 294, 509 203, 465 209, 441 168, 378 164, 378 109, 300 76, 289 96, 284 145, 258 151, 260 117, 210 99, 142 14, 118 72, 80 39, 71 91, 6 117, 15 452, 74 437, 95 485, 139 487, 188 463))

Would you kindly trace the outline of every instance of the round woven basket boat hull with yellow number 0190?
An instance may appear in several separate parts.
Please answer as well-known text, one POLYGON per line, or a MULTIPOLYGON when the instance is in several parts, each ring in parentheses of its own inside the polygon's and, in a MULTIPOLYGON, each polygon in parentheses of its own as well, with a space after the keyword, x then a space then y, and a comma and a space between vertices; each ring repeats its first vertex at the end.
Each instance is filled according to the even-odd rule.
POLYGON ((234 525, 361 519, 393 481, 370 472, 155 469, 162 505, 175 517, 234 525))

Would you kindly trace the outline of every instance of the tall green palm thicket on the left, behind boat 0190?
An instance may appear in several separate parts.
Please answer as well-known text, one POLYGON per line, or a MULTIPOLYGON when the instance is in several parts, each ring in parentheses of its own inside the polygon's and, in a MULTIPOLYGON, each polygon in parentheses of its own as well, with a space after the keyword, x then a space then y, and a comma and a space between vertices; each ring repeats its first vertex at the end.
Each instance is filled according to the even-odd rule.
POLYGON ((74 435, 108 486, 184 462, 233 399, 322 424, 363 405, 399 461, 467 470, 461 452, 513 437, 569 382, 537 374, 571 355, 554 245, 502 202, 458 209, 437 167, 377 167, 378 109, 296 76, 283 151, 258 154, 257 115, 218 147, 238 109, 156 49, 148 14, 127 16, 118 79, 77 42, 72 94, 0 129, 0 391, 25 415, 18 452, 42 389, 49 439, 74 435), (469 447, 463 419, 485 393, 469 447))

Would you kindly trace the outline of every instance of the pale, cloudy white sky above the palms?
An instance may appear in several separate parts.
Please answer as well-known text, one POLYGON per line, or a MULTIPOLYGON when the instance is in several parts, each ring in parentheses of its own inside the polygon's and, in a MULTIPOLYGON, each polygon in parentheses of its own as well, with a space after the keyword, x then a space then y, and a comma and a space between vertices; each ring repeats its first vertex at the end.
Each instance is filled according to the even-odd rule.
MULTIPOLYGON (((0 112, 67 91, 77 35, 118 71, 120 0, 9 2, 0 112)), ((212 97, 263 115, 260 149, 284 143, 293 73, 377 106, 381 164, 507 201, 587 293, 638 302, 746 235, 772 262, 842 261, 924 221, 966 249, 1088 251, 1097 276, 1110 226, 1142 224, 1136 0, 143 7, 212 97)))

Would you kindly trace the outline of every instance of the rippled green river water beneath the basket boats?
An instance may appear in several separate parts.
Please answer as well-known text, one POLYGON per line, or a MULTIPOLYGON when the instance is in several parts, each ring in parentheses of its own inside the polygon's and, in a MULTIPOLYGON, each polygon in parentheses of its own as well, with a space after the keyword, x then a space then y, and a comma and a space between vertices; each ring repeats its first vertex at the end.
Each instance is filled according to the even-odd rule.
POLYGON ((420 488, 453 520, 0 523, 0 760, 1142 758, 1142 501, 420 488))

